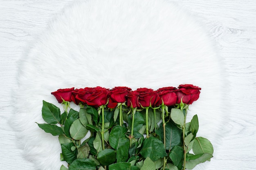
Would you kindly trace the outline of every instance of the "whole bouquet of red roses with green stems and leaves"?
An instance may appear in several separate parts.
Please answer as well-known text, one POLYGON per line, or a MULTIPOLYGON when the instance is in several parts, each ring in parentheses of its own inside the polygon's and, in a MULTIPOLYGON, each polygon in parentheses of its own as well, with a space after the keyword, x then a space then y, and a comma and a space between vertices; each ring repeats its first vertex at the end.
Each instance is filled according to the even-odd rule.
POLYGON ((64 112, 43 101, 40 128, 59 136, 61 170, 185 170, 210 160, 213 146, 196 137, 188 107, 201 88, 191 84, 154 91, 128 87, 66 88, 52 92, 64 112), (80 110, 70 108, 70 102, 80 110), (189 153, 193 150, 193 154, 189 153))

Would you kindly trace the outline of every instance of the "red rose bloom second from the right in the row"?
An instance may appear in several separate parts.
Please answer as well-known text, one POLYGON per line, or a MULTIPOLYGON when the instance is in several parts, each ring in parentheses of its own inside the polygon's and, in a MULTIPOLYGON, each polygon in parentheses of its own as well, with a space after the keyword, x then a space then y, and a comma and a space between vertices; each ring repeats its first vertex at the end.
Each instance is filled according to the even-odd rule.
POLYGON ((163 87, 157 90, 157 94, 159 95, 160 99, 158 100, 156 106, 162 105, 164 102, 165 106, 174 106, 177 101, 177 95, 175 91, 177 88, 175 87, 163 87))

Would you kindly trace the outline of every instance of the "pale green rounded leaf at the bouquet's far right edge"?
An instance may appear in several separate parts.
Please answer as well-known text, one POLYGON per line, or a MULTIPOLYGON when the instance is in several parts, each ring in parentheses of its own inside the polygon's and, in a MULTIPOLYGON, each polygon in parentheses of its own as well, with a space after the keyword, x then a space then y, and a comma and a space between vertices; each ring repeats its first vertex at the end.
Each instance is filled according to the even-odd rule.
POLYGON ((201 153, 209 153, 213 154, 213 146, 211 142, 203 137, 196 137, 194 139, 194 144, 193 144, 193 152, 195 155, 201 154, 201 153))

